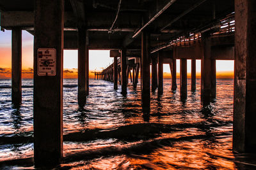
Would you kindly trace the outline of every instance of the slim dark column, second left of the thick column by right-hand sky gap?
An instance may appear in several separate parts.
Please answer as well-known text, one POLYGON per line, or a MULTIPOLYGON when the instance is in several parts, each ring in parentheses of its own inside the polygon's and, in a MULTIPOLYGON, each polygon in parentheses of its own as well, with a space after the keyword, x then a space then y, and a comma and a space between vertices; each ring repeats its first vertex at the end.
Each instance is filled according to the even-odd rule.
POLYGON ((187 98, 187 59, 180 59, 180 98, 187 98))

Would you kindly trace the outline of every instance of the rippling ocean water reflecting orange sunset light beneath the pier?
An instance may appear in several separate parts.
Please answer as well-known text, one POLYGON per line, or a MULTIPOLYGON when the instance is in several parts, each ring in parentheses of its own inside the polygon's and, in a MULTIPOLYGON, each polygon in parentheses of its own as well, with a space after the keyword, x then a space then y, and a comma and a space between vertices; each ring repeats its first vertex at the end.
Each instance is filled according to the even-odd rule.
MULTIPOLYGON (((217 97, 202 104, 196 92, 180 100, 171 80, 141 109, 140 83, 127 96, 113 83, 90 80, 86 106, 77 104, 77 80, 63 85, 63 164, 58 169, 256 169, 255 155, 232 153, 234 80, 217 80, 217 97)), ((0 80, 0 169, 34 169, 33 80, 22 80, 22 104, 12 106, 11 80, 0 80)))

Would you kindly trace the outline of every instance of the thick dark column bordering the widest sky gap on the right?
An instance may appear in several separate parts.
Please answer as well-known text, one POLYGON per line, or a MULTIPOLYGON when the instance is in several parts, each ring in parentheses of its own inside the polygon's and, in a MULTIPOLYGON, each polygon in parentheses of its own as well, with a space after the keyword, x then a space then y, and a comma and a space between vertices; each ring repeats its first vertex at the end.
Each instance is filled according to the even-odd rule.
POLYGON ((203 34, 204 57, 201 60, 201 96, 202 101, 209 103, 211 99, 211 37, 203 34))

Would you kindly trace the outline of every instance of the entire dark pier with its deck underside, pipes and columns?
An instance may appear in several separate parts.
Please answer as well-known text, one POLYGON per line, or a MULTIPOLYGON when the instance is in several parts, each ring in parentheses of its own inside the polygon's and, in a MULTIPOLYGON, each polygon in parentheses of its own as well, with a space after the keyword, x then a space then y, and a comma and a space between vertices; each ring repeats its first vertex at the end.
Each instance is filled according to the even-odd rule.
POLYGON ((180 99, 196 91, 201 60, 201 99, 216 98, 216 60, 235 60, 233 150, 256 152, 256 1, 1 1, 1 31, 12 30, 12 103, 22 103, 22 30, 34 36, 34 161, 36 167, 63 160, 63 50, 78 50, 77 104, 89 94, 89 50, 110 50, 113 64, 95 79, 136 89, 150 112, 150 92, 163 94, 163 64, 175 91, 180 60, 180 99), (191 89, 187 60, 191 60, 191 89), (152 71, 150 74, 150 66, 152 71), (151 76, 150 76, 151 75, 151 76), (150 81, 151 80, 151 81, 150 81))

